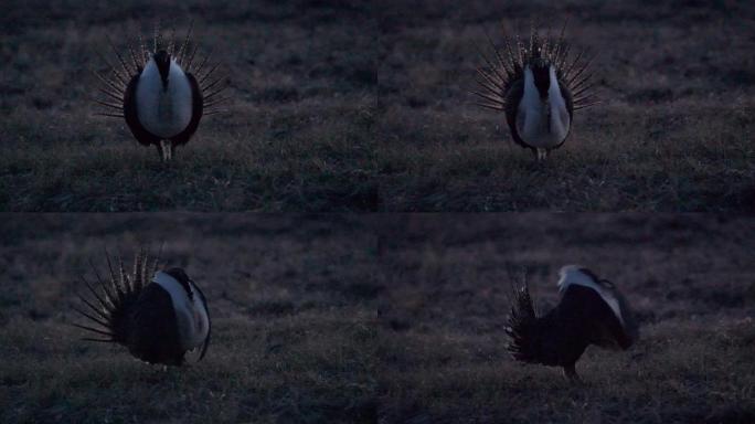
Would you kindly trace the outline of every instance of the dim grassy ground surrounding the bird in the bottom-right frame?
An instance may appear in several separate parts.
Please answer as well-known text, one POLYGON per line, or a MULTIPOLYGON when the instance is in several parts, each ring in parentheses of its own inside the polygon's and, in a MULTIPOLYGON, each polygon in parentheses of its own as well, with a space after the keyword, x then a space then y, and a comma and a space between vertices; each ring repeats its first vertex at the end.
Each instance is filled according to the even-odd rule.
POLYGON ((706 215, 414 215, 386 222, 381 423, 755 422, 755 221, 706 215), (584 384, 514 362, 510 284, 541 310, 557 271, 613 280, 640 321, 628 351, 587 349, 584 384))

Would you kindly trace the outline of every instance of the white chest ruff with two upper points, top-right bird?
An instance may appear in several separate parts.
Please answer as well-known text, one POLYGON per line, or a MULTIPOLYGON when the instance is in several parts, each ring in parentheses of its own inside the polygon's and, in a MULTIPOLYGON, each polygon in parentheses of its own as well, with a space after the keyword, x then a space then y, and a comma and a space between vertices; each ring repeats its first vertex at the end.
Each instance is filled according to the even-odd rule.
POLYGON ((517 108, 517 132, 529 146, 551 148, 568 135, 571 119, 561 95, 553 66, 550 68, 547 97, 543 100, 534 84, 530 67, 524 68, 524 92, 517 108))

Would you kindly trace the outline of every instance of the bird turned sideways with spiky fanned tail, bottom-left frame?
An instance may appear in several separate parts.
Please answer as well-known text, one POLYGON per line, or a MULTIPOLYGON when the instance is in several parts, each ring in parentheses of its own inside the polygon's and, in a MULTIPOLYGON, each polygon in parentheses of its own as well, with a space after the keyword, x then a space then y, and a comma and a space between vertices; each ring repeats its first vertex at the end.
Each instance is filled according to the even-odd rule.
POLYGON ((201 361, 212 322, 196 283, 182 268, 158 269, 159 254, 151 258, 145 248, 135 254, 130 272, 120 257, 106 256, 105 278, 91 262, 99 289, 82 276, 91 294, 88 299, 77 294, 83 306, 74 306, 86 319, 86 325, 73 324, 88 331, 82 340, 121 344, 151 364, 182 365, 185 353, 196 350, 201 361))

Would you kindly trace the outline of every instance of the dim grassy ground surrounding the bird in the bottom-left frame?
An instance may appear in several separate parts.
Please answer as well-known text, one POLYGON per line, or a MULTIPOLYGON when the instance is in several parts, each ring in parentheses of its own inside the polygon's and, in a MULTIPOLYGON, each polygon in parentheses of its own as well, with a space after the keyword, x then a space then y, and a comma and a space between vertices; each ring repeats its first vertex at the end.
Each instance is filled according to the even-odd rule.
POLYGON ((374 423, 373 233, 354 218, 13 215, 0 224, 0 422, 374 423), (208 297, 203 361, 81 341, 73 292, 164 242, 208 297))

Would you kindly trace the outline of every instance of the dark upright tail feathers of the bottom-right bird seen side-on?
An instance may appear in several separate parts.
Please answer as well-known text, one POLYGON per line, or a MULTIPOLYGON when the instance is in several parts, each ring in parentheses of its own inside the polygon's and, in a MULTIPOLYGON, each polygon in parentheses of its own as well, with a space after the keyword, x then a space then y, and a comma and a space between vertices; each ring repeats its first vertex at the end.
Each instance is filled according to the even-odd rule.
POLYGON ((535 361, 531 346, 531 332, 534 330, 536 321, 538 314, 530 296, 530 288, 524 285, 514 293, 511 314, 506 327, 506 333, 510 338, 507 350, 513 359, 524 362, 535 361))

